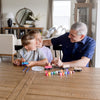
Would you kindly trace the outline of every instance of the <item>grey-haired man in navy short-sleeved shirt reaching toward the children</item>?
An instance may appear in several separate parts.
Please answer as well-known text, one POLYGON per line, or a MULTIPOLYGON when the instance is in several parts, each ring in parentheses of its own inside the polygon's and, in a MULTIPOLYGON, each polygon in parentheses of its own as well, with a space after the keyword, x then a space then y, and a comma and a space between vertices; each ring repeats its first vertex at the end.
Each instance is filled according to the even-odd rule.
POLYGON ((87 26, 82 22, 73 24, 69 33, 45 40, 44 45, 62 45, 62 61, 53 61, 59 67, 88 67, 95 50, 95 40, 87 36, 87 26))

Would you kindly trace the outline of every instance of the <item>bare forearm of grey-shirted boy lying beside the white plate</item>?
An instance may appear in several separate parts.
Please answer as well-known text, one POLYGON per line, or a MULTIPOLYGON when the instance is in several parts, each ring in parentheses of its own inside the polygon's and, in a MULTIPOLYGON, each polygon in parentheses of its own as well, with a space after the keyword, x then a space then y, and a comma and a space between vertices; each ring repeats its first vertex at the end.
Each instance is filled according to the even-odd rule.
POLYGON ((32 66, 45 66, 48 63, 47 59, 43 59, 40 61, 30 61, 27 67, 32 67, 32 66))

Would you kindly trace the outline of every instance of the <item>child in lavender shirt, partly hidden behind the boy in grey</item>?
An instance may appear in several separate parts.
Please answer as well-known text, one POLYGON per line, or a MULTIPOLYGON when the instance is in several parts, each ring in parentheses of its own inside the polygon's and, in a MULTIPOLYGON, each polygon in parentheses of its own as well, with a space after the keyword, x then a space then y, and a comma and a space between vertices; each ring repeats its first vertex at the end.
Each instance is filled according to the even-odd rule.
POLYGON ((47 57, 48 62, 51 63, 51 61, 53 60, 53 56, 52 56, 51 50, 48 47, 42 45, 43 40, 42 40, 41 33, 39 31, 30 31, 29 34, 35 36, 37 48, 40 48, 40 50, 47 57))

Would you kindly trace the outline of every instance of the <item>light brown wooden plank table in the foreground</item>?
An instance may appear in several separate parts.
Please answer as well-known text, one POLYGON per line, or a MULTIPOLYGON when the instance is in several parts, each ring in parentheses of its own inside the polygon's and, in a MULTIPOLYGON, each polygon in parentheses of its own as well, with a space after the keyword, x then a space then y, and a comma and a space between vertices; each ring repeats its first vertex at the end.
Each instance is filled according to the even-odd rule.
POLYGON ((0 100, 100 100, 100 69, 60 77, 0 63, 0 100))

